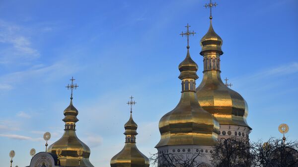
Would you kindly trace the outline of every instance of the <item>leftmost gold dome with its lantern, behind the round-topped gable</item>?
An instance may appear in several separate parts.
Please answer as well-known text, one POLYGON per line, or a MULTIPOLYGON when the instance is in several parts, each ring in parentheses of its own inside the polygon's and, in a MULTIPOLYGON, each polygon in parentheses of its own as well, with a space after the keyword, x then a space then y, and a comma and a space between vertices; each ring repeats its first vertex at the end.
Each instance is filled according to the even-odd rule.
POLYGON ((73 100, 71 99, 70 105, 64 111, 65 118, 63 121, 65 122, 65 132, 58 141, 48 148, 47 152, 56 155, 56 150, 61 150, 62 154, 59 157, 61 166, 77 167, 79 160, 77 151, 82 150, 83 154, 80 157, 80 166, 94 167, 89 161, 89 147, 80 141, 75 134, 75 122, 78 121, 76 118, 77 114, 78 111, 73 106, 73 100))

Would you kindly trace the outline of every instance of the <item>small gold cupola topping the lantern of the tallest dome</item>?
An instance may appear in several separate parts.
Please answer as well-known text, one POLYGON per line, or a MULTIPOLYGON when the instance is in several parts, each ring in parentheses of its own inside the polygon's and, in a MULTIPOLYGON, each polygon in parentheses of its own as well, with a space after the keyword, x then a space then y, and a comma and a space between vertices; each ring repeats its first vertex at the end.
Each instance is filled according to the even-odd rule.
POLYGON ((205 52, 208 52, 208 51, 218 52, 219 55, 224 54, 222 51, 223 40, 214 31, 211 21, 210 21, 209 30, 205 34, 205 36, 201 39, 200 43, 201 43, 201 47, 202 47, 202 51, 200 52, 200 55, 202 55, 202 56, 205 54, 205 52))

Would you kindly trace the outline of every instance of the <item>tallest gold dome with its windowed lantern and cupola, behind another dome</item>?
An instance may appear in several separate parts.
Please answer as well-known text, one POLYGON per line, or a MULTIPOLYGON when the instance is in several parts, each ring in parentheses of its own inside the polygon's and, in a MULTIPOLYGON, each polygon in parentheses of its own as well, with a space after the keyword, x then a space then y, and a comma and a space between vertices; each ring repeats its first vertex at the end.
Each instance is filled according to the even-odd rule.
POLYGON ((212 22, 207 34, 201 40, 204 56, 204 75, 201 84, 196 89, 201 107, 213 114, 220 124, 238 125, 251 129, 247 122, 248 108, 242 96, 228 88, 221 79, 220 56, 222 38, 215 33, 212 22))

